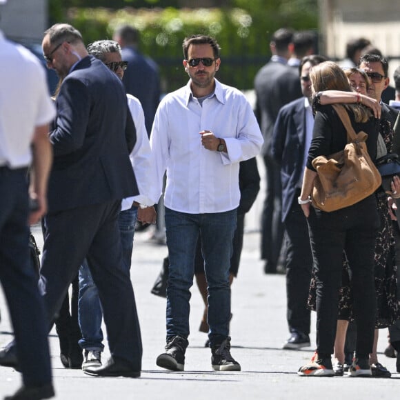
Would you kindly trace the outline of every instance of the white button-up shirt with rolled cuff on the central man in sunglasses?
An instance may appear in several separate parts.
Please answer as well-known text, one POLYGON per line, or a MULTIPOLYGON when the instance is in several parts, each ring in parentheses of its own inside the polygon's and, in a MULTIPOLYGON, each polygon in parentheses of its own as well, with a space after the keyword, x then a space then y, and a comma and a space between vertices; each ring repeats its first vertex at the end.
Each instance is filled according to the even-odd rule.
POLYGON ((192 96, 190 81, 167 94, 154 119, 150 146, 157 189, 167 171, 164 204, 179 212, 225 212, 239 206, 239 162, 261 150, 263 137, 254 112, 239 90, 214 79, 214 96, 203 104, 192 96), (202 130, 225 139, 228 152, 201 145, 202 130))

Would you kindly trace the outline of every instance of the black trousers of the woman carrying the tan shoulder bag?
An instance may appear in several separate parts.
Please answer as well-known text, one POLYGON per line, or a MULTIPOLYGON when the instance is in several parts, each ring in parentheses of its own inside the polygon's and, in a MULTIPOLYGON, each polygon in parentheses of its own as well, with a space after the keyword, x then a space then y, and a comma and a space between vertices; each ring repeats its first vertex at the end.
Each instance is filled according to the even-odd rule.
POLYGON ((374 194, 354 206, 334 212, 312 208, 308 217, 317 280, 317 352, 332 354, 343 250, 352 270, 357 357, 372 352, 377 299, 374 286, 374 248, 379 228, 374 194))

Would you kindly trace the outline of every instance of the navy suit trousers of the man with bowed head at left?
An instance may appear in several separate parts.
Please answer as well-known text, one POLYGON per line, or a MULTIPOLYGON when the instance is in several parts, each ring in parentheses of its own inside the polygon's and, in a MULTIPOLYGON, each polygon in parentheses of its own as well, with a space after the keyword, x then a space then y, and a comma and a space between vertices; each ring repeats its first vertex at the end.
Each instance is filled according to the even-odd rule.
POLYGON ((117 217, 120 201, 49 213, 40 283, 49 330, 85 257, 99 290, 112 356, 141 370, 141 333, 130 275, 123 266, 117 217))

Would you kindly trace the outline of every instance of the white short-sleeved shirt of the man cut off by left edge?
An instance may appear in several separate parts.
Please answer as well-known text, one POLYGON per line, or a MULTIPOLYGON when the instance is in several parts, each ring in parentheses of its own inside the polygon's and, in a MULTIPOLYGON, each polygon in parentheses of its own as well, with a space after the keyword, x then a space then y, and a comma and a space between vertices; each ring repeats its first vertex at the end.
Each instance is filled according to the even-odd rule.
POLYGON ((0 166, 28 166, 34 128, 54 116, 43 66, 0 31, 0 166))

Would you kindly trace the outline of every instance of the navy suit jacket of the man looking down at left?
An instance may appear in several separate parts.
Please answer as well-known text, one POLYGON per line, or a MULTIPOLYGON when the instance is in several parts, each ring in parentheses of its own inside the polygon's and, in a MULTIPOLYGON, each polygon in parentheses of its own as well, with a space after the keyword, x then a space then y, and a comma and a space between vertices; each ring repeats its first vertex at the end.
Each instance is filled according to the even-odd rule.
POLYGON ((129 159, 136 130, 117 76, 85 57, 63 80, 56 105, 49 212, 138 194, 129 159))

